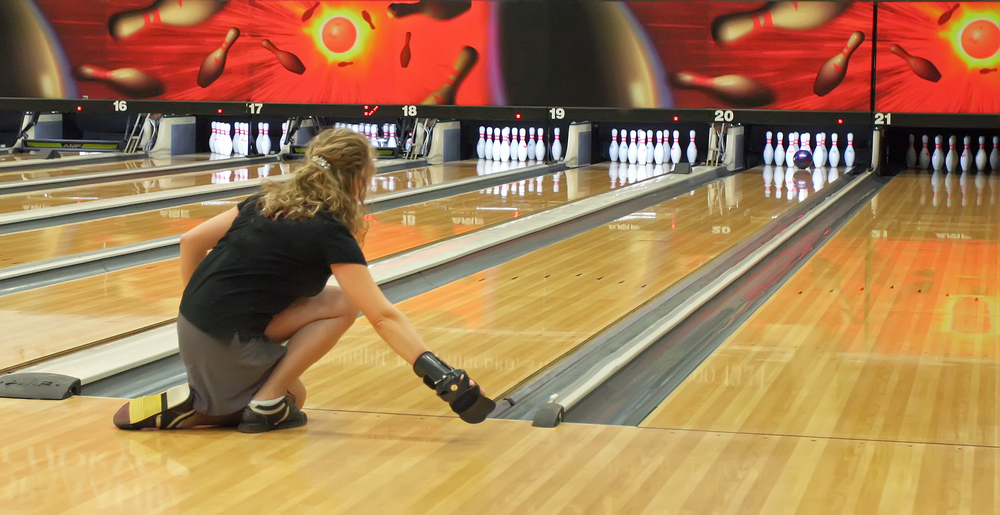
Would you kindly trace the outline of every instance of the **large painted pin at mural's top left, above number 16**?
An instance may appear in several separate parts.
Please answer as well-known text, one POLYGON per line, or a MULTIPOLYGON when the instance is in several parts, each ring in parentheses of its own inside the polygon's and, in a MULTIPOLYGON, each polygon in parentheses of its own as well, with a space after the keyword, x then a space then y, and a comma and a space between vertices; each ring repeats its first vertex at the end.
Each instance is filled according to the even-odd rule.
POLYGON ((156 0, 144 9, 122 11, 108 19, 115 39, 127 38, 153 25, 192 27, 222 10, 229 0, 156 0))

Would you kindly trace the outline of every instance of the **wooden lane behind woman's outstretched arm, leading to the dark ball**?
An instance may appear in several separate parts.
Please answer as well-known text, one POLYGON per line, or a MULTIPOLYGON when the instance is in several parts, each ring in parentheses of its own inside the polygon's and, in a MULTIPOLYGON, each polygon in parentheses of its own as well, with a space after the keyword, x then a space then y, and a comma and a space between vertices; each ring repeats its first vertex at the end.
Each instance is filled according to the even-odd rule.
MULTIPOLYGON (((721 179, 398 306, 445 361, 501 395, 797 205, 797 191, 789 199, 766 190, 762 172, 721 179)), ((808 177, 792 184, 811 194, 808 177)), ((363 319, 303 381, 313 408, 449 412, 363 319)))

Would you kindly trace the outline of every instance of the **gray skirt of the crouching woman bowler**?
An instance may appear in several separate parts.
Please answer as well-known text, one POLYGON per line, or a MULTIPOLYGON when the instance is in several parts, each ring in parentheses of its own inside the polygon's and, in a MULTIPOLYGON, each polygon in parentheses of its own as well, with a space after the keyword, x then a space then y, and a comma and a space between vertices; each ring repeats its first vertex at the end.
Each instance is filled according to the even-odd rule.
POLYGON ((212 416, 230 415, 250 404, 254 394, 285 355, 269 338, 229 343, 210 336, 181 315, 177 342, 188 373, 194 409, 212 416))

